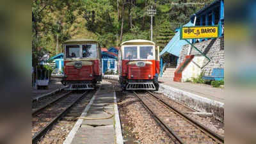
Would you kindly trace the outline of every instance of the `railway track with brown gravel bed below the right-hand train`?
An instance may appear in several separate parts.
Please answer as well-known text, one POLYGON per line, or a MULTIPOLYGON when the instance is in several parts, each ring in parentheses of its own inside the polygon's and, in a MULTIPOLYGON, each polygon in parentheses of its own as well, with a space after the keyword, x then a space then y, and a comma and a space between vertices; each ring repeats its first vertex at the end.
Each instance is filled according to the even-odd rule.
POLYGON ((164 131, 175 138, 175 143, 224 143, 223 136, 189 118, 153 93, 133 93, 164 131))

